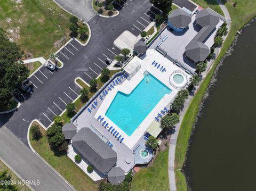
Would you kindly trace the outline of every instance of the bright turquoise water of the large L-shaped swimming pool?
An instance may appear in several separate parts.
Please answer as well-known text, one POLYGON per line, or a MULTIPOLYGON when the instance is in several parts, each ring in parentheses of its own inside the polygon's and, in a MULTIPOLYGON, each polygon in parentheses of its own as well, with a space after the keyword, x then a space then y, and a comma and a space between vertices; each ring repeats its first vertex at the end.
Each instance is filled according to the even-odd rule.
POLYGON ((105 115, 131 136, 163 96, 171 92, 170 88, 148 74, 129 95, 117 92, 105 115))

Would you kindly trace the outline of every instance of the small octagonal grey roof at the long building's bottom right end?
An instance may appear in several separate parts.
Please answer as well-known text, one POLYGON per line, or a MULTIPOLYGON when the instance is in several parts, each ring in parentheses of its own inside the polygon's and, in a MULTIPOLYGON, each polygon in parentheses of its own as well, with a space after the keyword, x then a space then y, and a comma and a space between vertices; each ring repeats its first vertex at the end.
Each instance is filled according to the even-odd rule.
POLYGON ((124 170, 120 167, 114 167, 108 172, 108 181, 113 185, 121 184, 124 179, 124 170))

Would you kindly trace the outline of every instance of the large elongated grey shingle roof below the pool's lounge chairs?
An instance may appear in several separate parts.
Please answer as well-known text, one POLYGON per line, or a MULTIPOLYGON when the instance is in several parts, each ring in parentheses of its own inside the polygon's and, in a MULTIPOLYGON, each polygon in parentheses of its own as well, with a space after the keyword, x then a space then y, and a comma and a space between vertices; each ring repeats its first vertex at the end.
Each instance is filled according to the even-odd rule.
POLYGON ((90 128, 82 128, 72 138, 72 145, 102 173, 107 173, 116 163, 117 154, 90 128))

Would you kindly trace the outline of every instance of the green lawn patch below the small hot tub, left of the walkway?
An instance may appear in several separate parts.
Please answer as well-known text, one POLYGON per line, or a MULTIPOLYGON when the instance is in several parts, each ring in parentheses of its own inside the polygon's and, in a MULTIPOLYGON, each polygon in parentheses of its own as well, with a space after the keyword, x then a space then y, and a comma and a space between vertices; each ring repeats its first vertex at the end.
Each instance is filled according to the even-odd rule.
POLYGON ((156 156, 153 165, 141 169, 132 179, 131 190, 169 190, 168 154, 169 147, 156 156))

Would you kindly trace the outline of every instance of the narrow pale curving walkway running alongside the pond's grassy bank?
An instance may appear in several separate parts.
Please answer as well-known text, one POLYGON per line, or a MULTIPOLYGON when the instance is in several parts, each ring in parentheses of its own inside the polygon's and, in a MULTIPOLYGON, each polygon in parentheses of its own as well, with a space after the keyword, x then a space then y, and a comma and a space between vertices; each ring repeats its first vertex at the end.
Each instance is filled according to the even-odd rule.
MULTIPOLYGON (((224 15, 225 15, 225 18, 226 18, 226 21, 227 21, 227 28, 228 28, 228 31, 231 27, 231 18, 230 18, 230 15, 229 15, 229 12, 226 8, 226 6, 221 2, 221 0, 218 0, 218 3, 221 7, 221 10, 223 11, 224 15)), ((225 40, 227 38, 228 35, 226 35, 223 40, 225 40)), ((220 48, 216 48, 216 52, 217 54, 220 52, 220 48)), ((211 61, 211 63, 209 64, 211 67, 212 67, 212 64, 213 64, 214 60, 211 61)), ((208 68, 208 70, 204 73, 203 77, 207 76, 207 73, 210 71, 211 67, 208 68)), ((197 92, 197 90, 199 89, 200 85, 196 87, 196 90, 195 92, 197 92)), ((195 93, 196 94, 196 93, 195 93)), ((194 95, 195 95, 194 94, 194 95)), ((170 147, 169 147, 169 182, 170 182, 170 190, 171 191, 176 191, 177 188, 176 188, 176 181, 175 181, 175 148, 176 148, 176 144, 177 144, 177 138, 178 138, 178 135, 179 135, 179 130, 180 130, 180 125, 181 125, 181 122, 183 120, 183 117, 187 111, 187 108, 192 100, 193 96, 192 95, 189 95, 189 97, 187 98, 185 104, 184 104, 184 107, 183 107, 183 110, 180 112, 180 122, 175 126, 175 132, 174 134, 171 135, 171 139, 170 139, 170 147)))

